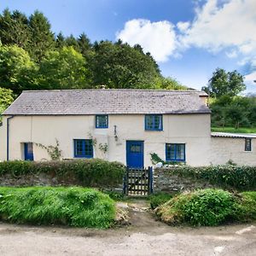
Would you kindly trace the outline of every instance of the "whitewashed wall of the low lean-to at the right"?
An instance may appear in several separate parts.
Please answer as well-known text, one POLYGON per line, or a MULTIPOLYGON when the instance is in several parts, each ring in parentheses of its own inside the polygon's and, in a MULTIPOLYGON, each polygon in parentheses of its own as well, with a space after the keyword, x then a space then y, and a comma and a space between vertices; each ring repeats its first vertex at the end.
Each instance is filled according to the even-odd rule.
POLYGON ((256 138, 252 138, 252 151, 245 151, 245 138, 212 137, 211 163, 224 165, 229 160, 238 165, 256 166, 256 138))

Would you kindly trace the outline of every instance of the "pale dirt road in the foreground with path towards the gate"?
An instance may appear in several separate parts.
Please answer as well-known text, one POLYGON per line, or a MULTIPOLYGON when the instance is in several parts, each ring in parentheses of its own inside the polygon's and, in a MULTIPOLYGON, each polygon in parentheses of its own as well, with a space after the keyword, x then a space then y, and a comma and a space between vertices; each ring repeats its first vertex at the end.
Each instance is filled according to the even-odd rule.
POLYGON ((174 228, 130 207, 131 225, 112 230, 0 224, 0 255, 256 255, 256 224, 174 228))

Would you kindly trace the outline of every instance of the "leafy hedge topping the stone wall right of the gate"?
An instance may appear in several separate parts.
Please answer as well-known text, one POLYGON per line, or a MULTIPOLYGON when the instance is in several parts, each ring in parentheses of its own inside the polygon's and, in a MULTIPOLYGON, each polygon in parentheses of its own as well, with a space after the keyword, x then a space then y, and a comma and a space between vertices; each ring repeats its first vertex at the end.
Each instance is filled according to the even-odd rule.
POLYGON ((167 172, 170 176, 201 179, 224 189, 256 189, 256 166, 172 166, 161 171, 167 172))

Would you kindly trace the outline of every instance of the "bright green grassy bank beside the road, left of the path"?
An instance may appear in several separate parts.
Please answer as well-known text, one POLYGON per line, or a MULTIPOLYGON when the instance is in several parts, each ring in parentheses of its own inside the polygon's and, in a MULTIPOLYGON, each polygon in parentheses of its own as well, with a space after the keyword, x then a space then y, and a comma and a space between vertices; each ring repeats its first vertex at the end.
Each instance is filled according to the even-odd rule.
POLYGON ((9 222, 108 228, 114 215, 113 200, 95 189, 0 188, 0 219, 9 222))

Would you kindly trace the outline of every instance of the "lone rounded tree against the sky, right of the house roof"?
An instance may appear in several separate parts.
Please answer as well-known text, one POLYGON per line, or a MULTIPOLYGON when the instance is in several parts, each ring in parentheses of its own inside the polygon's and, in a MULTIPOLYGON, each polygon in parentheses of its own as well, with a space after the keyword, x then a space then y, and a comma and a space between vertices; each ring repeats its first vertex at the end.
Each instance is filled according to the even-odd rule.
POLYGON ((219 96, 237 96, 242 90, 246 89, 244 78, 237 71, 226 72, 222 68, 217 68, 212 73, 212 78, 209 80, 208 85, 203 87, 212 97, 219 96))

